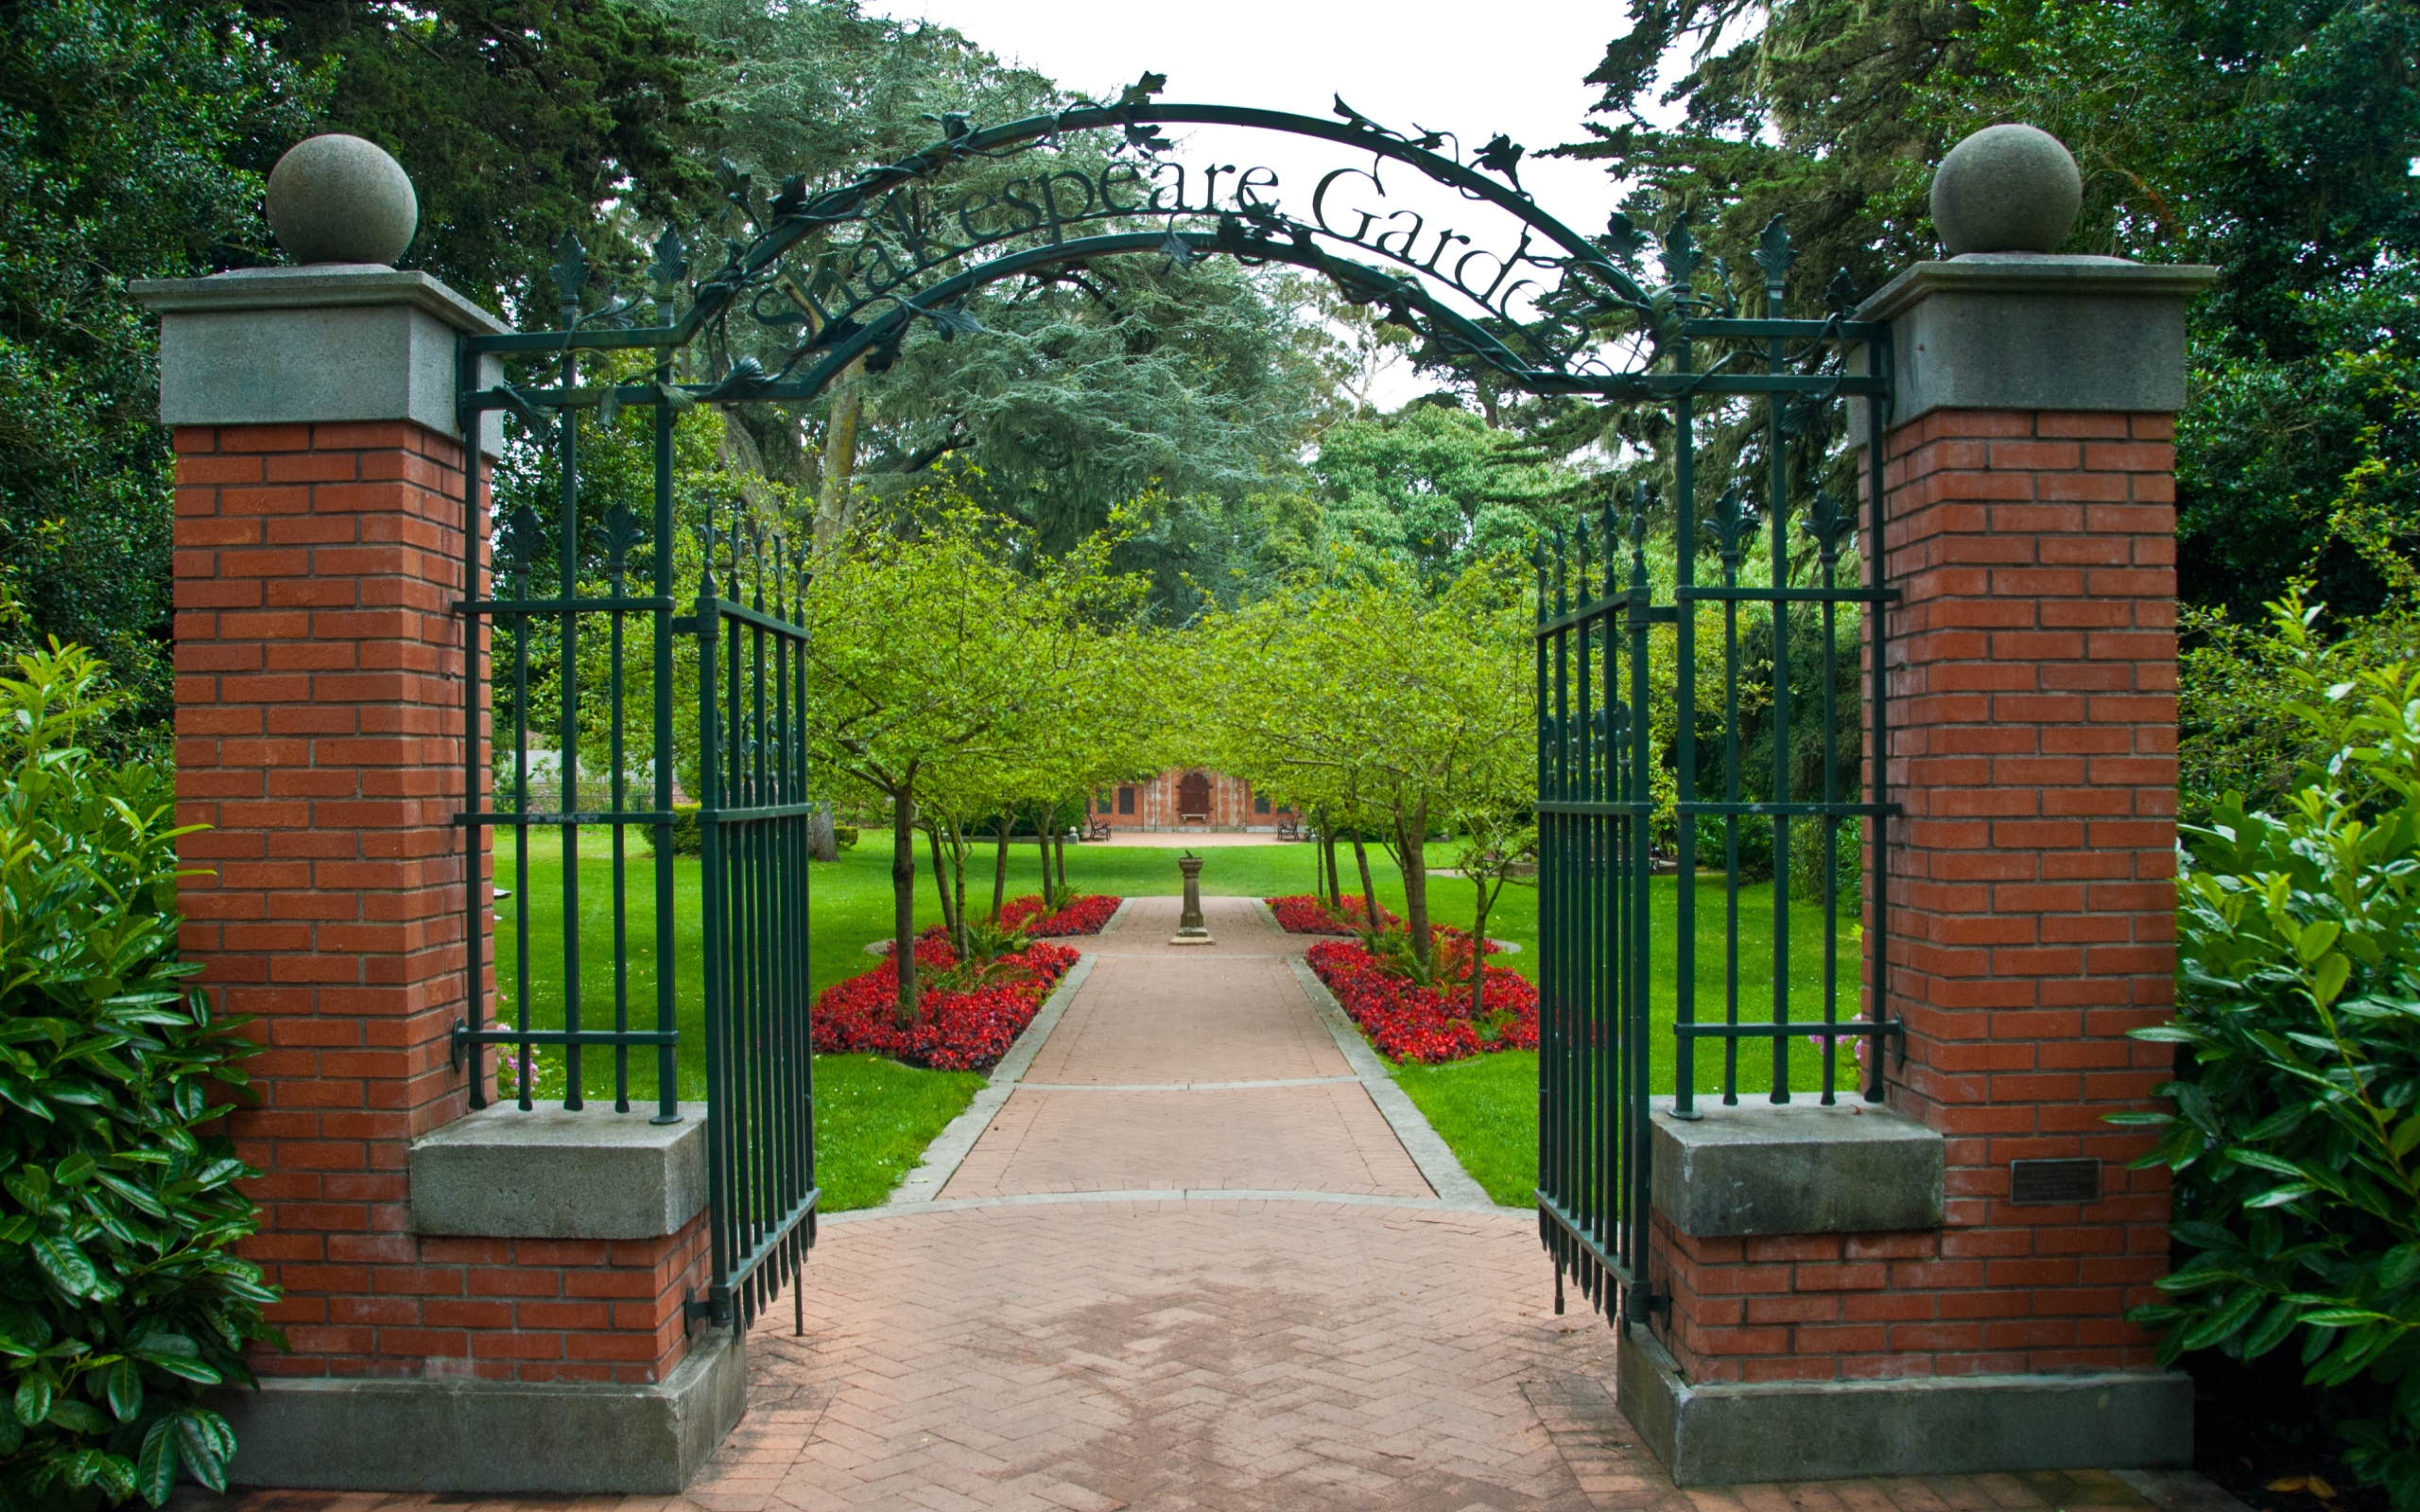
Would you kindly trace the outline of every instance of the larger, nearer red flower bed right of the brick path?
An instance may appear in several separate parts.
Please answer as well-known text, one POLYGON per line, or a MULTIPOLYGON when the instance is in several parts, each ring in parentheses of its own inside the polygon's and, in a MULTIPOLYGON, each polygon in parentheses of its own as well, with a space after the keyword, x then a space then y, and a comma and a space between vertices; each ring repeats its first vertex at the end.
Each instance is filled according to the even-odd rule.
POLYGON ((1358 939, 1324 939, 1307 951, 1307 960, 1346 1016, 1394 1060, 1435 1064, 1486 1050, 1537 1050, 1537 987, 1515 970, 1483 968, 1483 1011, 1471 1018, 1471 941, 1462 931, 1437 929, 1442 989, 1392 973, 1358 939))

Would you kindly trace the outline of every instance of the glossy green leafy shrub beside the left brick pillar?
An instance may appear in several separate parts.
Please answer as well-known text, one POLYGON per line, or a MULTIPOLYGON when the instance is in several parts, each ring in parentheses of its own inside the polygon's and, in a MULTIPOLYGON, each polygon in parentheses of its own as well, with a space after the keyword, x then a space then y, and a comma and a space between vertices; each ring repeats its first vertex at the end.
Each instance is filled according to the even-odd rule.
POLYGON ((182 987, 174 791, 82 743, 104 706, 82 648, 0 677, 0 1507, 223 1488, 198 1389, 273 1338, 211 1101, 254 1048, 182 987))

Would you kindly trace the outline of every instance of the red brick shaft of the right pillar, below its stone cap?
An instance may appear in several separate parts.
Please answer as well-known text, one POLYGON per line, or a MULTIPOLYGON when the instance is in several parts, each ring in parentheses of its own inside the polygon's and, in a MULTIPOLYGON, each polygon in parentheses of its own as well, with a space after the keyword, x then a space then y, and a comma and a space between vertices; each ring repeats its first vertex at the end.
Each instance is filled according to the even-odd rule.
POLYGON ((1890 1106, 1948 1139, 1890 1333, 1929 1374, 2154 1364, 2125 1314, 2168 1270, 2168 1173, 2105 1115, 2171 1074, 2127 1031, 2176 985, 2173 433, 1936 409, 1885 443, 1890 1106))

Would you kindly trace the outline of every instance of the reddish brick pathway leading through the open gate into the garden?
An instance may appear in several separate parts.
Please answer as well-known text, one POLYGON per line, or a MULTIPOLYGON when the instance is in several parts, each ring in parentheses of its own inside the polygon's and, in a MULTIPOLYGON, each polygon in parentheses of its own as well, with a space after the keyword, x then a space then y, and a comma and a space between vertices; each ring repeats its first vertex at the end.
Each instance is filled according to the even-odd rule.
POLYGON ((1137 900, 1089 941, 1094 968, 1021 1084, 946 1178, 924 1173, 939 1200, 828 1219, 806 1335, 777 1306, 748 1340, 748 1418, 687 1497, 220 1505, 2147 1505, 2110 1476, 1675 1490, 1607 1396, 1612 1333, 1551 1314, 1529 1214, 1437 1200, 1287 963, 1304 941, 1249 900, 1205 907, 1215 948, 1164 943, 1174 900, 1137 900))

